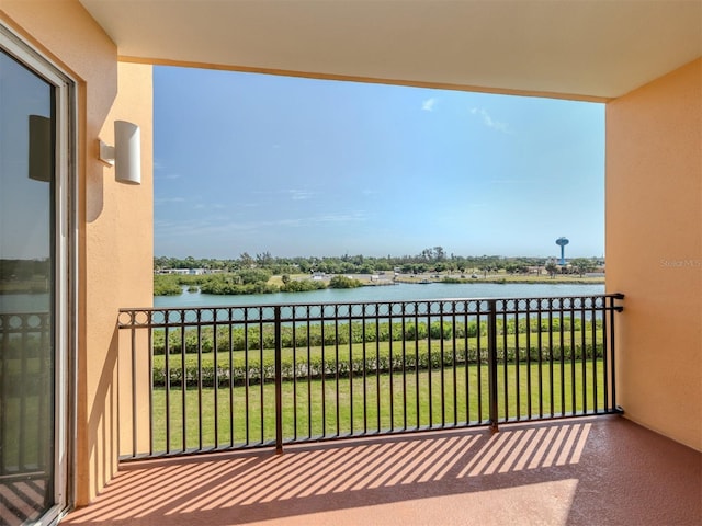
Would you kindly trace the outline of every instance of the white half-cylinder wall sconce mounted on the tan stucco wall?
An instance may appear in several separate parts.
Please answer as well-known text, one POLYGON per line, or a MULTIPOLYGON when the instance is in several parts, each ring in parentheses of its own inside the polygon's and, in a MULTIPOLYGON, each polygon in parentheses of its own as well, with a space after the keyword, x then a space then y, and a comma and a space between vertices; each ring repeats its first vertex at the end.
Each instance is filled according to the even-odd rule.
POLYGON ((114 146, 100 140, 100 160, 114 165, 115 181, 141 184, 141 132, 136 124, 114 122, 114 146))

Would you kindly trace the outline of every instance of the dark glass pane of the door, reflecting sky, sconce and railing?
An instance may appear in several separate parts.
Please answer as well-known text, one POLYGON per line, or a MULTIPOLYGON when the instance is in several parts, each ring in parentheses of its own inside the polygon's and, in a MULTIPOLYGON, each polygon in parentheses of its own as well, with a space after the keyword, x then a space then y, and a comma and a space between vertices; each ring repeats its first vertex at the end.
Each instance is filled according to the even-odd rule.
POLYGON ((0 524, 54 504, 54 88, 0 50, 0 524))

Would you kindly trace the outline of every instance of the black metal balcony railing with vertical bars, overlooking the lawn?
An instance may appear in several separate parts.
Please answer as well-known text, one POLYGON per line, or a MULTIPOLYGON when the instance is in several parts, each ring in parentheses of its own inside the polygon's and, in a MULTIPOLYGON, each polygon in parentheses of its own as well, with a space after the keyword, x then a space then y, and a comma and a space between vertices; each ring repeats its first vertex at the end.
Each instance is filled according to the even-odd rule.
POLYGON ((620 412, 621 299, 123 309, 122 458, 620 412))

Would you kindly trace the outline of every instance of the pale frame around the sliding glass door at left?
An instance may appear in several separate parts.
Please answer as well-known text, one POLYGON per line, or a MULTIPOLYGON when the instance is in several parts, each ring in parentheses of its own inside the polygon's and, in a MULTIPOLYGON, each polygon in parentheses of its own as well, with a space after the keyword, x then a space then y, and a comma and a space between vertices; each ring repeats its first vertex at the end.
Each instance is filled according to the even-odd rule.
POLYGON ((0 48, 54 87, 54 506, 37 524, 55 524, 76 494, 78 334, 78 174, 76 80, 0 22, 0 48))

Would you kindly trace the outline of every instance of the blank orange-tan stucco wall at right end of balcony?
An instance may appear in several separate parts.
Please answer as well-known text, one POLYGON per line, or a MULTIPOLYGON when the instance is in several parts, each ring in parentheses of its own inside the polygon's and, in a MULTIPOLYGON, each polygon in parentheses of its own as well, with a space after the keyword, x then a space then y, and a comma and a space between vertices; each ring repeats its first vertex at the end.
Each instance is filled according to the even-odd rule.
POLYGON ((702 59, 607 105, 605 196, 619 402, 702 450, 702 59))

